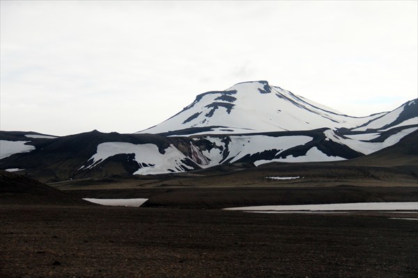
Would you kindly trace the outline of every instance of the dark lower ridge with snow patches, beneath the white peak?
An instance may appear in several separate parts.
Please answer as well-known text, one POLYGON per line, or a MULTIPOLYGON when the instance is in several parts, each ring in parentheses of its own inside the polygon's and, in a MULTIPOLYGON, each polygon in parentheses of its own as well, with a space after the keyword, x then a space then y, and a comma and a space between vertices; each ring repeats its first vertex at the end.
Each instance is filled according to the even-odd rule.
POLYGON ((36 149, 1 159, 0 169, 52 182, 188 172, 231 163, 254 167, 271 162, 341 161, 396 145, 416 130, 397 127, 373 140, 351 139, 331 129, 190 138, 92 131, 29 142, 36 149))

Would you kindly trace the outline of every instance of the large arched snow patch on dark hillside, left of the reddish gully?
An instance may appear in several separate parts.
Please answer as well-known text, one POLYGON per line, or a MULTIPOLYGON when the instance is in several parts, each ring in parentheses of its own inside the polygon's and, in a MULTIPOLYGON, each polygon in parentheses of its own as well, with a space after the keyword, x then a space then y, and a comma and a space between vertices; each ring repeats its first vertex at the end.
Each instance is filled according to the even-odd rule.
POLYGON ((89 166, 82 166, 79 170, 91 169, 105 159, 116 154, 134 154, 134 161, 141 166, 134 174, 165 174, 170 172, 183 172, 193 170, 192 167, 183 163, 187 157, 173 145, 167 147, 161 154, 157 145, 139 144, 128 142, 104 142, 98 145, 96 154, 90 159, 93 163, 89 166))

